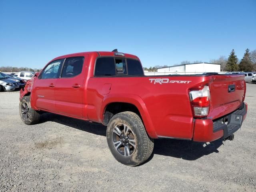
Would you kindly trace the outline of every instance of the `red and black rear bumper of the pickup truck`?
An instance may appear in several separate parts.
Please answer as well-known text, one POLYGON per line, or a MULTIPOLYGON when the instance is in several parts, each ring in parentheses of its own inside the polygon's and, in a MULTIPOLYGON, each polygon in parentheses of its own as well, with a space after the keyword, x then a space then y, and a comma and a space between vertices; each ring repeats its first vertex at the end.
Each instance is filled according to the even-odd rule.
POLYGON ((193 140, 198 142, 210 142, 219 138, 225 139, 242 126, 246 114, 247 104, 243 103, 239 109, 225 116, 228 120, 227 124, 222 124, 221 119, 218 121, 196 119, 194 123, 193 140))

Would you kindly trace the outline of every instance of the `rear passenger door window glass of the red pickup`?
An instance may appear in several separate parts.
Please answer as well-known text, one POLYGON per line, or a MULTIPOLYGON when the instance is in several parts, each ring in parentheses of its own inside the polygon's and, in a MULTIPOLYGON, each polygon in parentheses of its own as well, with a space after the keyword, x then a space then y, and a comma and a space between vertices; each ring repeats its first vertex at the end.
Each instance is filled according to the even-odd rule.
POLYGON ((82 72, 84 57, 72 57, 65 60, 61 77, 74 77, 82 72))

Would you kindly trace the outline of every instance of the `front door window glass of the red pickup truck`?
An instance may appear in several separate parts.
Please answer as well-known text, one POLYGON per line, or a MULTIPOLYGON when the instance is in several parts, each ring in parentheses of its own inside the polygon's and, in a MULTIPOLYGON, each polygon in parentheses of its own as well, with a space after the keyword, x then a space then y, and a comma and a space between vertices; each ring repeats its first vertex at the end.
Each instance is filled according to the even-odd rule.
POLYGON ((58 77, 62 60, 51 62, 42 72, 41 79, 54 79, 58 77))

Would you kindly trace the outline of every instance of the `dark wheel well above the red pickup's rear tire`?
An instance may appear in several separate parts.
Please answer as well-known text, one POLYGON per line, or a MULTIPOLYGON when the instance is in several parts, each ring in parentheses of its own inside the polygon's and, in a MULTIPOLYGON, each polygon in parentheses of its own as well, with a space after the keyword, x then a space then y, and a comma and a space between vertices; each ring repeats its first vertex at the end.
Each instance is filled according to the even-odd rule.
POLYGON ((106 107, 103 124, 108 125, 108 122, 112 118, 112 116, 125 111, 134 112, 140 117, 140 119, 142 119, 140 116, 140 112, 135 105, 130 103, 114 102, 108 104, 108 106, 106 107))

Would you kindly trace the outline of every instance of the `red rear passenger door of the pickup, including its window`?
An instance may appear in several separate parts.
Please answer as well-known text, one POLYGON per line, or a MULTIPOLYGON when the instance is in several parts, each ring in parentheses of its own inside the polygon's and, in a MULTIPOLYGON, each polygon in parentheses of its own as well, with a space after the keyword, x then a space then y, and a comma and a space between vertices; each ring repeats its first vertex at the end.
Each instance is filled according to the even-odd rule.
POLYGON ((82 118, 84 56, 66 58, 60 78, 56 81, 56 112, 82 118))

